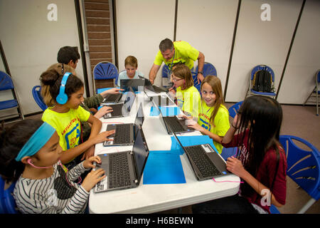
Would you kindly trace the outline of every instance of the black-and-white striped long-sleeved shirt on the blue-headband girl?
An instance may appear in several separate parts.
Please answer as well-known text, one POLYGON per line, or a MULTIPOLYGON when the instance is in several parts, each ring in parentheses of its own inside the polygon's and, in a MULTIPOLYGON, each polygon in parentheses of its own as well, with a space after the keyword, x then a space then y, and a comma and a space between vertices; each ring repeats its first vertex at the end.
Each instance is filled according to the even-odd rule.
POLYGON ((65 173, 61 162, 53 165, 53 175, 40 180, 19 177, 14 188, 14 199, 23 214, 83 213, 89 192, 75 180, 87 169, 83 162, 65 173))

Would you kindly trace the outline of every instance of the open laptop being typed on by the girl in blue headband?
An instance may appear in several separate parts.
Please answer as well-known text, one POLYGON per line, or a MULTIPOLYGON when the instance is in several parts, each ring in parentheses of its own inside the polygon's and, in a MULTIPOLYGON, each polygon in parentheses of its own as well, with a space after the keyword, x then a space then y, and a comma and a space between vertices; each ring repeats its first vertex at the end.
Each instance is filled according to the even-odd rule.
POLYGON ((106 177, 95 185, 94 192, 123 190, 138 187, 149 156, 149 149, 142 131, 138 129, 132 151, 112 152, 98 155, 101 164, 95 164, 105 170, 106 177))

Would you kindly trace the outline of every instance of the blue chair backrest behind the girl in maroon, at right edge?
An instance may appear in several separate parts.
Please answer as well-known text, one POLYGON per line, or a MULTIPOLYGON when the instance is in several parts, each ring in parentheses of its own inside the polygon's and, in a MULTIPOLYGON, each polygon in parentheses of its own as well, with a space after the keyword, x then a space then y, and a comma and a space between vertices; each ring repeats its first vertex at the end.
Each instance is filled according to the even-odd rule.
POLYGON ((320 196, 320 154, 310 142, 292 135, 280 135, 279 141, 287 155, 287 175, 294 180, 311 197, 318 200, 320 196), (297 145, 309 147, 304 150, 297 145))

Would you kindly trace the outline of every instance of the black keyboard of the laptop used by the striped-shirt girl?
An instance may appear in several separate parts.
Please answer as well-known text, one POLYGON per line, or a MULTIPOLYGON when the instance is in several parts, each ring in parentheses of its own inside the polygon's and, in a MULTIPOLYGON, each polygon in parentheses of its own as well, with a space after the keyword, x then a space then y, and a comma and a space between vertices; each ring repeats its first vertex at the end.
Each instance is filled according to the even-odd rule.
POLYGON ((127 152, 110 154, 109 187, 124 187, 131 185, 127 152))

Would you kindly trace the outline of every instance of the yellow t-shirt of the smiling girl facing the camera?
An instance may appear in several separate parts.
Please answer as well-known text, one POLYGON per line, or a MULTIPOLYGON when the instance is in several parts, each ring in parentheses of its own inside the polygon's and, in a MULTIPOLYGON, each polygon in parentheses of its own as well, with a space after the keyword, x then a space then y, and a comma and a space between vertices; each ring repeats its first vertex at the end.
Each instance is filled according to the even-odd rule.
MULTIPOLYGON (((210 124, 210 116, 213 110, 213 107, 209 107, 206 102, 202 100, 201 108, 199 109, 198 124, 201 125, 201 127, 206 128, 206 130, 210 131, 210 133, 219 136, 225 136, 225 133, 227 133, 230 128, 229 111, 224 105, 220 105, 218 113, 215 115, 213 122, 215 126, 213 126, 210 124)), ((218 152, 221 153, 223 150, 223 145, 221 145, 219 142, 215 142, 214 140, 213 144, 217 148, 218 152)))

